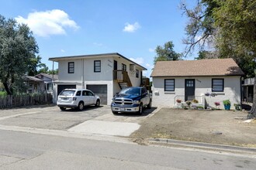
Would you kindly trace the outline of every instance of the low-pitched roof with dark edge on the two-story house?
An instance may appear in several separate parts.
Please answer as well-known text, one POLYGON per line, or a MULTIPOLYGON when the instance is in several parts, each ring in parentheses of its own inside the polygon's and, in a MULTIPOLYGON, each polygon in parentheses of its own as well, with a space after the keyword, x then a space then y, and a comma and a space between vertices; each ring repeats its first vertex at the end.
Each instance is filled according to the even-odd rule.
MULTIPOLYGON (((52 57, 49 58, 50 61, 60 61, 64 59, 81 59, 81 58, 96 58, 96 57, 108 57, 108 56, 118 56, 122 57, 123 59, 126 59, 130 61, 131 63, 136 64, 137 66, 140 66, 140 64, 133 62, 132 60, 126 58, 125 56, 122 56, 119 53, 102 53, 102 54, 91 54, 91 55, 81 55, 81 56, 60 56, 60 57, 52 57)), ((140 66, 143 70, 147 70, 144 66, 140 66)))

